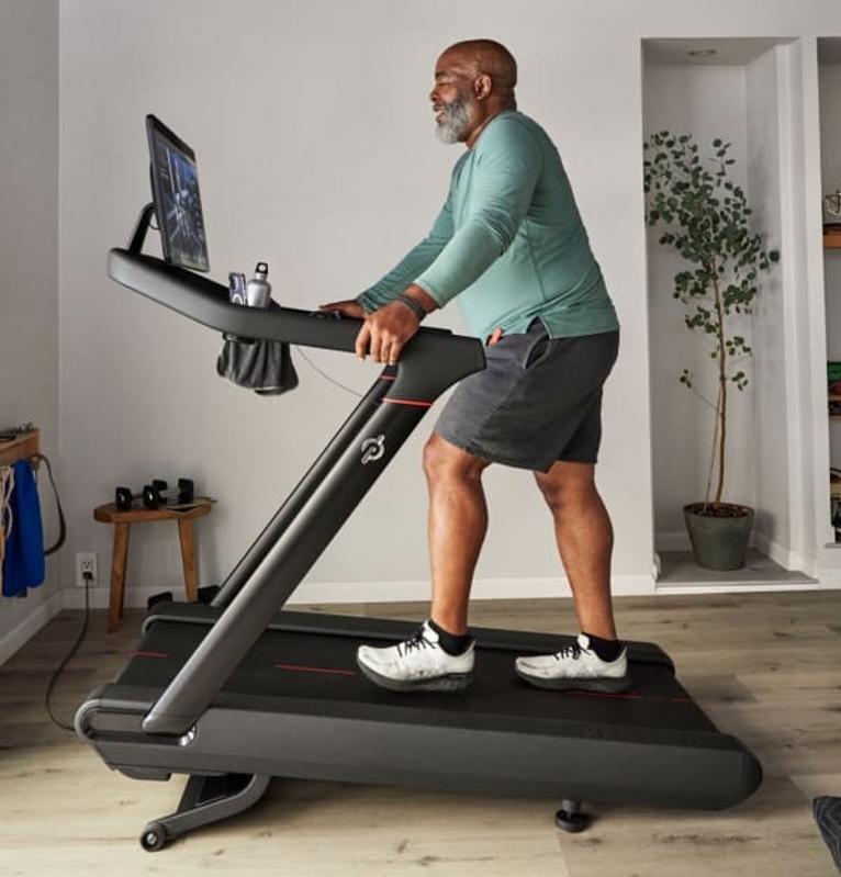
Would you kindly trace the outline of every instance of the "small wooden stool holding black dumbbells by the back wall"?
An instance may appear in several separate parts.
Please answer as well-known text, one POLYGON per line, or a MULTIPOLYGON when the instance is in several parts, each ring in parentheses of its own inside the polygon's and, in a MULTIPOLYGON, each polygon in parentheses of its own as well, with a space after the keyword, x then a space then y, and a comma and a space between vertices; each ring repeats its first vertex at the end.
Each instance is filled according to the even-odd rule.
POLYGON ((197 506, 190 511, 172 511, 168 508, 132 508, 127 511, 117 510, 113 503, 93 509, 94 520, 102 524, 114 525, 114 549, 111 558, 111 597, 108 609, 108 629, 116 630, 123 617, 123 601, 125 597, 125 566, 128 560, 128 528, 132 524, 146 520, 177 520, 178 536, 181 541, 181 561, 184 567, 184 589, 187 599, 195 603, 198 599, 198 573, 195 565, 195 551, 193 549, 192 521, 210 514, 212 505, 197 506))

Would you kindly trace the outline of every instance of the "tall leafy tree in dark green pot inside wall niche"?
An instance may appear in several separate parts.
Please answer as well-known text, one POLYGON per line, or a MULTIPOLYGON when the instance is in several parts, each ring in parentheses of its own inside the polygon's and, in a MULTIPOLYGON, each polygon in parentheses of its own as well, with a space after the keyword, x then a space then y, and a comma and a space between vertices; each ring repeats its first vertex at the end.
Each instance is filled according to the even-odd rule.
POLYGON ((751 355, 744 336, 735 327, 735 315, 752 313, 760 274, 780 260, 776 250, 764 248, 762 233, 751 227, 744 190, 730 177, 735 164, 728 156, 730 145, 714 139, 713 148, 702 156, 691 135, 669 131, 652 134, 643 145, 646 221, 662 229, 660 244, 676 250, 688 263, 674 277, 673 297, 686 307, 687 328, 710 336, 711 341, 710 364, 718 385, 715 404, 695 387, 689 369, 680 375, 684 386, 715 408, 706 497, 684 506, 695 560, 711 570, 744 566, 754 518, 752 508, 722 501, 728 390, 744 391, 745 360, 751 355))

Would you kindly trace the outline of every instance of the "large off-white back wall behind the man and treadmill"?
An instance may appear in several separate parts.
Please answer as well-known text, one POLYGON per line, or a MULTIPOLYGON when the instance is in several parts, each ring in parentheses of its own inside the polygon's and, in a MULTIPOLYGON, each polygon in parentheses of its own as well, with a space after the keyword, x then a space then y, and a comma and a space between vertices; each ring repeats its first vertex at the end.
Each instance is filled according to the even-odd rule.
MULTIPOLYGON (((520 106, 561 149, 619 311, 623 351, 606 393, 599 483, 616 525, 618 589, 650 588, 640 38, 841 31, 834 0, 76 0, 60 15, 70 552, 106 555, 110 533, 90 513, 115 483, 193 474, 221 501, 200 528, 203 578, 218 580, 352 404, 304 363, 302 387, 277 401, 223 384, 212 334, 105 278, 106 249, 125 240, 148 198, 144 114, 156 112, 198 150, 215 277, 263 258, 282 301, 315 306, 354 294, 427 228, 458 155, 433 139, 431 65, 449 42, 481 33, 520 60, 520 106)), ((457 325, 453 308, 438 319, 457 325)), ((360 390, 374 373, 349 357, 314 356, 360 390)), ((419 453, 431 417, 301 598, 424 596, 419 453)), ((487 486, 492 524, 476 593, 549 593, 559 564, 528 476, 500 469, 487 486)), ((752 498, 748 482, 738 491, 752 498)), ((146 530, 133 535, 130 578, 179 582, 173 535, 162 525, 146 530)))

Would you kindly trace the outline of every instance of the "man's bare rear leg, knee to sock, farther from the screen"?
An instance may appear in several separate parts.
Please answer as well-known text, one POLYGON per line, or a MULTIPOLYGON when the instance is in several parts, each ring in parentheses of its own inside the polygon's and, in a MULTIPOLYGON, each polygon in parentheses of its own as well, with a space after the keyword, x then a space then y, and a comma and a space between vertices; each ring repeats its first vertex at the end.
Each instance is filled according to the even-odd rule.
POLYGON ((558 461, 535 472, 554 519, 554 535, 583 631, 616 639, 610 604, 610 517, 595 485, 592 463, 558 461))

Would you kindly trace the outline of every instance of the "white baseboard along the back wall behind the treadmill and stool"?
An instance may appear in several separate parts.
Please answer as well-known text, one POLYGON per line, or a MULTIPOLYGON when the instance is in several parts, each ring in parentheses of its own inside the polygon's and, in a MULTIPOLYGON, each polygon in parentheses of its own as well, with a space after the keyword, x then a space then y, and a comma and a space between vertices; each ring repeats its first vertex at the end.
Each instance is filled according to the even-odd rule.
MULTIPOLYGON (((146 606, 154 594, 171 591, 176 599, 183 599, 183 587, 135 587, 125 594, 125 605, 146 606)), ((654 593, 653 576, 620 575, 613 581, 614 596, 651 595, 654 593)), ((69 587, 61 592, 64 608, 85 607, 85 592, 69 587)), ((548 578, 478 578, 471 591, 473 599, 535 599, 541 597, 571 597, 569 583, 564 577, 548 578)), ((91 588, 90 606, 94 609, 108 608, 109 589, 91 588)), ((429 599, 429 581, 410 580, 397 582, 304 582, 295 591, 289 604, 301 603, 413 603, 429 599)))

